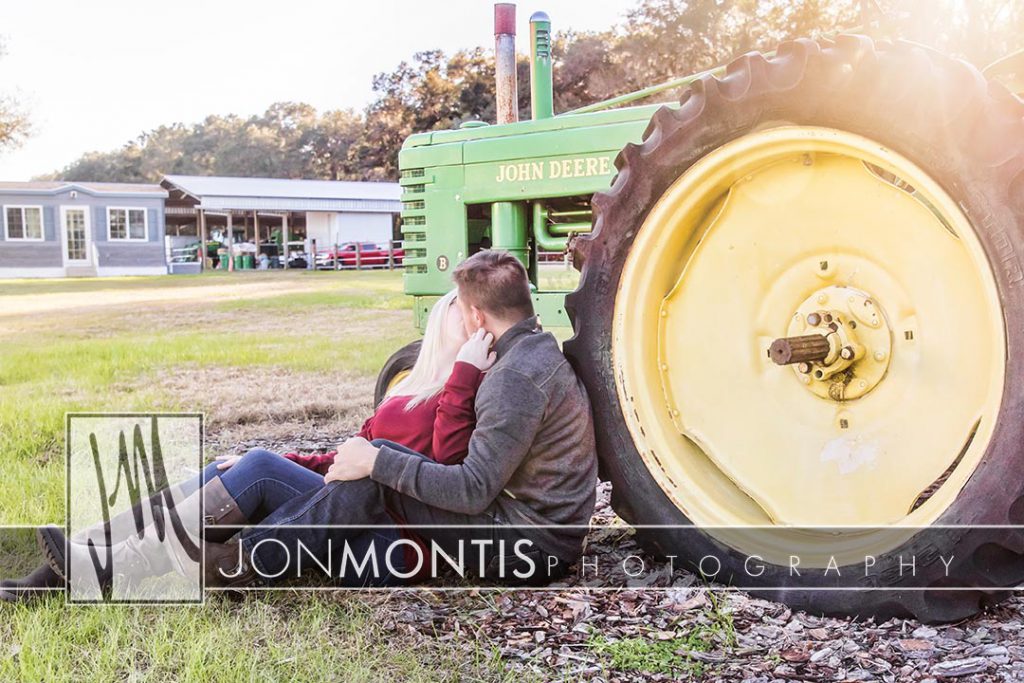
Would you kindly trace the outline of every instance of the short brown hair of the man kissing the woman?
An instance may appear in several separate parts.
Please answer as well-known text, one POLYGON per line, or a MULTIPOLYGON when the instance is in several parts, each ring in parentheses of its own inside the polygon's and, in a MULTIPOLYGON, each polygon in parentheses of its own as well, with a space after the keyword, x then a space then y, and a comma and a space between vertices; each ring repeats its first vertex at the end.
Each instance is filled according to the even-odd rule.
POLYGON ((506 251, 478 251, 452 272, 459 296, 480 310, 504 321, 534 314, 526 268, 506 251))

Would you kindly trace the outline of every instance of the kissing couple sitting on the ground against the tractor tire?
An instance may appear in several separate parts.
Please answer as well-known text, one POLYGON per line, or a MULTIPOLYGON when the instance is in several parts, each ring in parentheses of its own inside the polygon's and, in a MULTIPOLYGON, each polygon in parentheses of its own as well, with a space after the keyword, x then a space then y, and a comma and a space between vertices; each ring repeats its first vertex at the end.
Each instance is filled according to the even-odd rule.
MULTIPOLYGON (((336 455, 254 450, 178 484, 181 519, 204 509, 196 545, 207 586, 295 577, 300 546, 322 552, 321 567, 330 562, 345 586, 423 579, 432 567, 426 544, 461 558, 467 575, 506 583, 547 583, 580 557, 597 481, 586 391, 539 329, 517 259, 482 251, 454 280, 410 375, 336 455), (343 565, 343 545, 372 561, 343 565)), ((56 527, 38 533, 46 563, 0 583, 0 600, 65 587, 69 563, 93 566, 86 539, 114 544, 113 571, 129 579, 196 570, 184 558, 187 539, 162 543, 154 528, 136 527, 132 511, 70 540, 56 527)), ((94 580, 106 588, 114 575, 108 567, 94 580)))

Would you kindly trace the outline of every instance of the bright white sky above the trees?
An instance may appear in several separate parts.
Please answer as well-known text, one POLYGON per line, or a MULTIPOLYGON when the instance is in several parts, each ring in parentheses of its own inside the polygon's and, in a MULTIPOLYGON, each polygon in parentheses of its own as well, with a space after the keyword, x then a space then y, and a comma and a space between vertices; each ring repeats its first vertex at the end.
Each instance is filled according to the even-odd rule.
MULTIPOLYGON (((633 0, 518 2, 528 49, 537 10, 556 31, 621 24, 633 0)), ((275 101, 361 109, 375 74, 415 52, 494 46, 489 0, 4 0, 0 94, 32 137, 0 154, 0 180, 58 170, 161 124, 249 116, 275 101)))

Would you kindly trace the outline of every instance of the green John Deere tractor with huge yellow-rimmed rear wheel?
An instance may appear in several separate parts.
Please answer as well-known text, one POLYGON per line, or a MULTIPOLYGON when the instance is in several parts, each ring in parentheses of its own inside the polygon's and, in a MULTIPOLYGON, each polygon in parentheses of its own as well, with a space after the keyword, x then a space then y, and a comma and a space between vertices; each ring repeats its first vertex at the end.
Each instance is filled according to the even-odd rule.
POLYGON ((462 259, 520 258, 545 326, 573 328, 615 510, 718 581, 930 621, 1024 581, 1024 55, 989 80, 919 45, 797 40, 556 116, 538 13, 516 122, 509 11, 499 125, 399 157, 417 323, 462 259), (543 287, 558 254, 575 291, 543 287))

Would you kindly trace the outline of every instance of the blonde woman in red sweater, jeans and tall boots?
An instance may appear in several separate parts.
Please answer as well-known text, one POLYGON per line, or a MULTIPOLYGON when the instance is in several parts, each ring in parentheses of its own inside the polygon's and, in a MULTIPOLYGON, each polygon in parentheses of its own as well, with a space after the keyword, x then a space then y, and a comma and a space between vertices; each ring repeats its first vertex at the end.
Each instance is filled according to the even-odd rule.
MULTIPOLYGON (((495 362, 495 354, 489 350, 490 335, 481 331, 467 338, 455 300, 453 290, 434 304, 416 364, 364 423, 359 436, 387 439, 444 464, 456 464, 466 457, 476 422, 473 399, 482 373, 495 362)), ((334 455, 281 456, 254 449, 244 456, 218 457, 200 476, 179 484, 176 498, 184 499, 177 504, 179 514, 188 518, 189 506, 201 505, 205 496, 207 524, 212 522, 205 538, 226 541, 237 528, 218 529, 218 525, 258 522, 295 496, 324 486, 324 474, 334 455), (210 511, 217 514, 210 515, 210 511)), ((140 506, 150 507, 151 502, 136 507, 140 506)), ((144 531, 140 539, 133 511, 128 511, 115 517, 109 528, 96 527, 85 538, 113 543, 114 564, 121 568, 138 566, 147 575, 174 570, 175 559, 159 547, 158 535, 152 528, 144 531)), ((0 582, 0 602, 28 601, 45 589, 63 588, 62 569, 70 559, 65 554, 88 552, 84 539, 66 544, 54 527, 40 529, 39 536, 47 562, 25 579, 0 582)))

